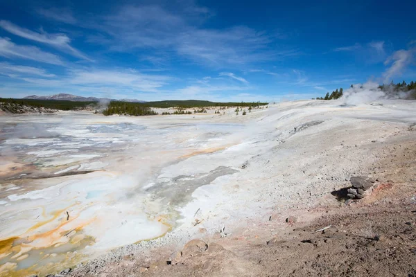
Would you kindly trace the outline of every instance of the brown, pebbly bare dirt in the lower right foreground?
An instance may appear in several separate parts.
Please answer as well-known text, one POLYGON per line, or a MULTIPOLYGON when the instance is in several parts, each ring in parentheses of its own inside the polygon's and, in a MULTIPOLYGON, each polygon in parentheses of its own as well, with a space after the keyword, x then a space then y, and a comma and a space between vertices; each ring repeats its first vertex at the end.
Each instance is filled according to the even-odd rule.
POLYGON ((315 208, 250 220, 225 238, 95 260, 61 276, 416 276, 416 133, 379 153, 364 171, 380 185, 359 201, 346 205, 333 191, 315 208))

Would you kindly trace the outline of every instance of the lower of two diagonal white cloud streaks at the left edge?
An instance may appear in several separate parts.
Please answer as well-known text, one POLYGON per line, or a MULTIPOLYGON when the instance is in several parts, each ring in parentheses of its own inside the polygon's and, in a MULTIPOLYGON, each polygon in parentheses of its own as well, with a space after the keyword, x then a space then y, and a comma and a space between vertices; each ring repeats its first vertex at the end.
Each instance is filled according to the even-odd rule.
POLYGON ((21 58, 46 62, 48 64, 64 64, 60 57, 51 53, 44 52, 35 46, 17 45, 10 39, 0 37, 0 56, 7 58, 21 58))

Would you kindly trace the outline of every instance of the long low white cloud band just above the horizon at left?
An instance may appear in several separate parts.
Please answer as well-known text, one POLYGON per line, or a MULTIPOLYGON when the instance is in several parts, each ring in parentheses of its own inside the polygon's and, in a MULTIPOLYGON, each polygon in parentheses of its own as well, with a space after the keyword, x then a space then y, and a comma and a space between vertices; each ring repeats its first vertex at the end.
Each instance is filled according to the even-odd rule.
MULTIPOLYGON (((167 75, 146 74, 132 69, 79 69, 69 71, 64 76, 47 77, 49 75, 46 72, 39 77, 23 73, 10 75, 8 81, 3 84, 3 88, 6 88, 3 91, 13 91, 14 96, 26 96, 28 91, 41 95, 45 94, 45 91, 49 94, 64 91, 74 94, 87 93, 89 96, 140 98, 142 100, 204 99, 238 102, 267 100, 266 96, 252 93, 252 88, 245 83, 209 76, 201 80, 191 80, 185 85, 179 82, 176 89, 168 88, 172 82, 177 81, 175 78, 167 75), (19 82, 11 82, 12 78, 19 82)), ((0 91, 2 91, 1 88, 0 91)))

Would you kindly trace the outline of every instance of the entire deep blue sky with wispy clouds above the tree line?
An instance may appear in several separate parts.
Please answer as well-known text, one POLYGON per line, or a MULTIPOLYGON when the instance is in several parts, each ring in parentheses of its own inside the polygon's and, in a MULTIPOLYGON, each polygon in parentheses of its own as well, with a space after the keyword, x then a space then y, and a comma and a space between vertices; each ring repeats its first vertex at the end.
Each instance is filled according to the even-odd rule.
POLYGON ((279 101, 416 80, 416 2, 280 2, 2 0, 0 96, 279 101))

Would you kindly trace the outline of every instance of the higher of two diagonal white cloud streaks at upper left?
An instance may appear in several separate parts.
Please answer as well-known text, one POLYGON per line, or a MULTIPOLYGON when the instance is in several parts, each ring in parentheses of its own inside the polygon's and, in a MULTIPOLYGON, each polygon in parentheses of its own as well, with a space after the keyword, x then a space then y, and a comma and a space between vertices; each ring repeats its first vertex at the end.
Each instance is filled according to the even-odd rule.
POLYGON ((80 51, 76 50, 69 45, 71 39, 64 34, 49 34, 46 32, 36 33, 32 30, 28 30, 26 28, 21 28, 15 24, 12 24, 10 21, 0 20, 0 27, 8 32, 12 33, 13 35, 17 35, 19 37, 24 37, 25 39, 30 39, 35 42, 41 42, 44 44, 49 44, 55 48, 58 48, 60 51, 65 53, 69 53, 75 57, 80 57, 84 60, 89 60, 89 57, 81 53, 80 51))

